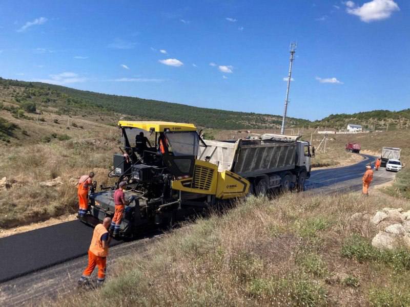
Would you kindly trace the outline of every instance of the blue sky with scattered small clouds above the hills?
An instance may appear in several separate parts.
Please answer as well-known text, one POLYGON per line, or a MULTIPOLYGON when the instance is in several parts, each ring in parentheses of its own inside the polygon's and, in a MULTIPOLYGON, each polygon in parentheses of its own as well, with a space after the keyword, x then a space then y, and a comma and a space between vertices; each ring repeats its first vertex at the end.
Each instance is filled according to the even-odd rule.
MULTIPOLYGON (((0 76, 288 115, 410 107, 410 2, 0 2, 0 76)), ((187 119, 189 121, 189 119, 187 119)))

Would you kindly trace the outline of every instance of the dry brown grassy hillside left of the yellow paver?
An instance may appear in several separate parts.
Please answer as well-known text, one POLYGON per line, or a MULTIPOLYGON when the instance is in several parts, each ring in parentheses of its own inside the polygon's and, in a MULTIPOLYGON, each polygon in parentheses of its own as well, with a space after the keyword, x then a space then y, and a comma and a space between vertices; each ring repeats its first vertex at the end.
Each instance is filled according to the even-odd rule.
POLYGON ((1 93, 5 102, 0 109, 0 179, 6 177, 7 184, 0 190, 0 228, 76 212, 72 181, 94 170, 98 184, 107 182, 118 130, 49 107, 37 107, 37 123, 37 114, 14 113, 20 106, 7 90, 1 93), (63 184, 40 185, 57 177, 63 184))

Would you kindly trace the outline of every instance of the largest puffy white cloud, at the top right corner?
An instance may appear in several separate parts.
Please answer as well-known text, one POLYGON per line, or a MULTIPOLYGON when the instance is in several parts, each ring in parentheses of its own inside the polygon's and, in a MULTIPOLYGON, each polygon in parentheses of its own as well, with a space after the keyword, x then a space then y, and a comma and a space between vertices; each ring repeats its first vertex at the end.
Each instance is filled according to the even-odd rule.
POLYGON ((399 6, 393 0, 373 0, 366 2, 361 7, 355 7, 352 1, 345 3, 349 14, 359 16, 365 23, 382 20, 390 17, 394 11, 399 11, 399 6))

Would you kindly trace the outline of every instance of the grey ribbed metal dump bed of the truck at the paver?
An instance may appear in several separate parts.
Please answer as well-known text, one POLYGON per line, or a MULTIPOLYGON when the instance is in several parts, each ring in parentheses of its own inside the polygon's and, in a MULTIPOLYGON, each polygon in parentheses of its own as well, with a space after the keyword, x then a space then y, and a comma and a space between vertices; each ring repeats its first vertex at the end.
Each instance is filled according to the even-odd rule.
POLYGON ((198 159, 218 165, 242 177, 295 168, 296 142, 265 140, 204 140, 198 159))

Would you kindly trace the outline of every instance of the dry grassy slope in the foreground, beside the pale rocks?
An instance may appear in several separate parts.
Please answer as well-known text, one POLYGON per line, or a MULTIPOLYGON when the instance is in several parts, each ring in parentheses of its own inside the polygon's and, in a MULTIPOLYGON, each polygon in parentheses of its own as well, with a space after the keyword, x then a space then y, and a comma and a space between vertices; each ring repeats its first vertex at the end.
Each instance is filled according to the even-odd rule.
POLYGON ((353 234, 368 245, 377 231, 368 220, 352 221, 353 213, 387 206, 392 200, 383 194, 251 198, 166 235, 148 260, 134 254, 120 261, 103 289, 58 304, 382 305, 398 280, 400 289, 410 286, 408 267, 395 269, 402 254, 358 262, 342 247, 354 248, 353 234))

